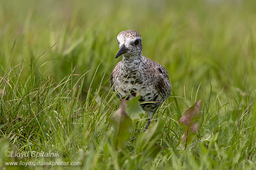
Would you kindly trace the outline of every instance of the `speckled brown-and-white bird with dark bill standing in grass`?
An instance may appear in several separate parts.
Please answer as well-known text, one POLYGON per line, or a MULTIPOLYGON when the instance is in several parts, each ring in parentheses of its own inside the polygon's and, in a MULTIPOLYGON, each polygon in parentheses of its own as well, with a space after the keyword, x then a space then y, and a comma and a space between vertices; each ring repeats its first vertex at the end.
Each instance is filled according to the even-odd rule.
POLYGON ((140 95, 140 106, 148 113, 146 129, 154 111, 171 94, 168 72, 161 64, 142 56, 142 37, 134 30, 121 31, 117 36, 119 50, 115 59, 122 55, 110 75, 110 87, 120 100, 140 95))

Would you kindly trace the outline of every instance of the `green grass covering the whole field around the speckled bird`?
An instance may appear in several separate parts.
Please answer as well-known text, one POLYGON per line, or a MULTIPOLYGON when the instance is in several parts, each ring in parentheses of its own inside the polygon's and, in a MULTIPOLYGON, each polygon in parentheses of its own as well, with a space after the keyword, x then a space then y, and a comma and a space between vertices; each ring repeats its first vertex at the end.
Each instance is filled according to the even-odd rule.
POLYGON ((82 166, 36 168, 256 169, 255 5, 2 0, 0 167, 34 169, 5 162, 52 160, 82 166), (146 135, 141 117, 116 147, 109 117, 120 105, 109 77, 122 59, 114 59, 116 36, 127 29, 142 35, 145 57, 164 65, 172 94, 146 135), (198 133, 185 149, 178 121, 200 99, 198 133), (10 158, 6 151, 60 157, 10 158))

